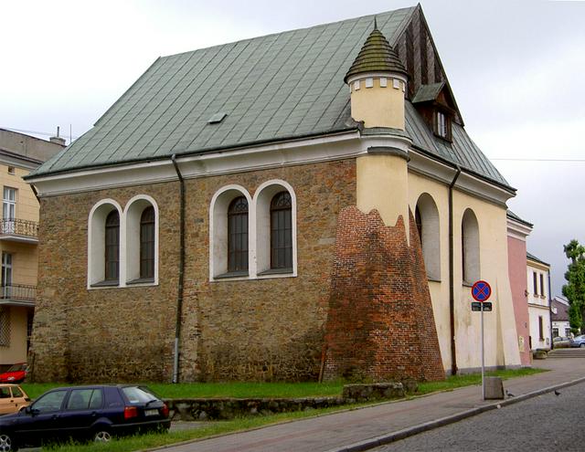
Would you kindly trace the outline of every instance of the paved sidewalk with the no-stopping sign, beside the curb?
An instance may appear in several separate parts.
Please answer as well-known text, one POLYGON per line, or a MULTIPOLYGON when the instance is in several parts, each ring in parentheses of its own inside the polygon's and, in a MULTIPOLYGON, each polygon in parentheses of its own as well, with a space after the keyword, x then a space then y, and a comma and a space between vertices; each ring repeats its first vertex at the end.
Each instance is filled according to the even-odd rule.
POLYGON ((409 401, 303 419, 248 432, 165 447, 165 452, 342 452, 367 450, 393 439, 410 436, 435 426, 456 422, 496 405, 522 400, 531 393, 585 380, 584 358, 548 358, 535 367, 549 369, 504 382, 515 397, 506 401, 481 400, 481 386, 432 394, 409 401))

